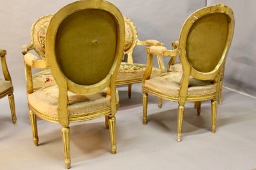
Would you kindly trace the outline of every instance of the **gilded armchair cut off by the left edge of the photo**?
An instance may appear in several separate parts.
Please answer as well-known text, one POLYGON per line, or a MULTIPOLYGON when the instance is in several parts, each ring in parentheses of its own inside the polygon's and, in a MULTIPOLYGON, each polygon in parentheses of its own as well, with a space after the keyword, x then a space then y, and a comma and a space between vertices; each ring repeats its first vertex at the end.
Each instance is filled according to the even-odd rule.
POLYGON ((4 80, 0 78, 0 99, 8 95, 11 113, 12 113, 12 122, 13 124, 16 124, 17 118, 15 113, 12 78, 8 71, 5 55, 6 55, 6 50, 0 49, 0 58, 1 58, 1 64, 3 69, 3 76, 4 76, 4 80))

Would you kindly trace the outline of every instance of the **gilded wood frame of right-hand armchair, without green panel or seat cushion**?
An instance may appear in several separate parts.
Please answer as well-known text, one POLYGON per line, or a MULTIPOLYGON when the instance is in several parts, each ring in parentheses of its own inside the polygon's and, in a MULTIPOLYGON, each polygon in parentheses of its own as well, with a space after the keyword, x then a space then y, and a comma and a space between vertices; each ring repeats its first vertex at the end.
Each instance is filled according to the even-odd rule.
POLYGON ((167 99, 170 101, 176 101, 179 103, 178 108, 178 117, 177 117, 177 141, 181 141, 182 139, 182 122, 183 122, 183 115, 184 115, 184 105, 186 102, 196 102, 196 106, 199 106, 200 101, 206 101, 211 99, 211 106, 212 106, 212 132, 216 131, 216 113, 217 113, 217 101, 218 95, 220 90, 220 80, 221 80, 221 73, 223 73, 223 69, 225 66, 225 60, 227 57, 228 50, 231 45, 232 37, 234 34, 234 13, 231 8, 225 6, 224 4, 216 4, 214 6, 208 6, 202 8, 200 10, 195 11, 192 13, 188 19, 184 22, 182 26, 182 30, 180 32, 179 43, 177 44, 177 48, 175 47, 174 50, 166 50, 164 48, 147 48, 147 71, 143 77, 143 124, 147 124, 147 101, 148 101, 148 93, 153 94, 154 96, 161 97, 163 99, 167 99), (225 43, 225 48, 223 49, 223 53, 221 58, 217 64, 217 66, 210 72, 202 73, 197 71, 194 67, 192 67, 187 59, 186 56, 186 43, 188 39, 188 33, 192 27, 192 25, 201 17, 205 15, 211 15, 212 13, 223 13, 228 17, 228 32, 227 32, 227 39, 225 43), (163 94, 161 92, 156 92, 153 89, 148 89, 145 87, 145 81, 150 78, 151 70, 152 70, 152 57, 153 55, 163 55, 163 56, 171 56, 176 57, 180 56, 180 62, 182 63, 182 79, 180 80, 180 89, 179 95, 173 96, 170 94, 163 94), (198 96, 188 96, 188 85, 189 85, 189 77, 193 76, 199 80, 214 80, 214 84, 216 84, 216 92, 210 94, 201 94, 198 96))

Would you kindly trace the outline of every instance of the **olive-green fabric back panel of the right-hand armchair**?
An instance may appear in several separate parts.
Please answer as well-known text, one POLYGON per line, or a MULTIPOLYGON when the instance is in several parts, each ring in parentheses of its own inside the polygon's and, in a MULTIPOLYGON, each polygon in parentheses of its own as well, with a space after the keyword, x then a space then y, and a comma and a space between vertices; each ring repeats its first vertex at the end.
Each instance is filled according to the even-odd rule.
POLYGON ((189 64, 197 71, 212 71, 221 59, 228 34, 228 18, 214 13, 196 20, 188 34, 186 52, 189 64))

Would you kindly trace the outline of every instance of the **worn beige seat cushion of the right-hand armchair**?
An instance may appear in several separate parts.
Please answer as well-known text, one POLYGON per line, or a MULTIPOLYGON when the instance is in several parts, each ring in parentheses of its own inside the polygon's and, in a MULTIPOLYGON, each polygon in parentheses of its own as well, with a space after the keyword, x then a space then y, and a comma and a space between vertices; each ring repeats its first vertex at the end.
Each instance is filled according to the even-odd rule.
MULTIPOLYGON (((146 80, 145 87, 162 94, 178 96, 181 78, 182 72, 180 71, 163 73, 146 80)), ((188 96, 211 94, 212 92, 216 92, 216 87, 210 80, 197 80, 192 77, 189 79, 188 96)))

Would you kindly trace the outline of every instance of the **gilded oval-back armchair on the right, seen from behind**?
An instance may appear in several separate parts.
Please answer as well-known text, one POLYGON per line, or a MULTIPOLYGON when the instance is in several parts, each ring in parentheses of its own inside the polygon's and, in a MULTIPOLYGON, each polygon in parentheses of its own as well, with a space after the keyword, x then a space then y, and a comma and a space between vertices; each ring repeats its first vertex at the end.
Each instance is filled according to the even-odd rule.
POLYGON ((221 74, 234 32, 234 14, 224 4, 192 13, 180 31, 175 50, 147 48, 147 70, 143 77, 143 124, 147 124, 148 93, 179 103, 177 141, 182 139, 184 105, 211 100, 212 132, 216 131, 217 101, 221 74), (170 71, 150 78, 153 55, 180 57, 182 71, 170 71))

